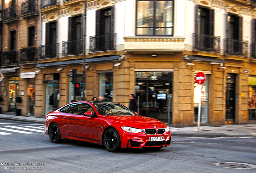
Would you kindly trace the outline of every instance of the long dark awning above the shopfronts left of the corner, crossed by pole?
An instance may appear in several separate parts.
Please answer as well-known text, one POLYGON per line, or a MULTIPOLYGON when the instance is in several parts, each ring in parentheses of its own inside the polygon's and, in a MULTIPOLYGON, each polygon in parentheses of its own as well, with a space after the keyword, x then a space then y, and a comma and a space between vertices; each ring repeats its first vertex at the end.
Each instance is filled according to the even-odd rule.
MULTIPOLYGON (((107 57, 101 57, 101 58, 90 58, 90 59, 86 59, 86 63, 114 61, 114 60, 119 60, 119 58, 120 58, 120 55, 118 55, 118 56, 107 56, 107 57)), ((84 62, 84 60, 51 62, 51 63, 45 63, 45 64, 37 64, 37 68, 48 67, 48 66, 61 66, 61 65, 69 65, 69 64, 83 64, 83 62, 84 62)))

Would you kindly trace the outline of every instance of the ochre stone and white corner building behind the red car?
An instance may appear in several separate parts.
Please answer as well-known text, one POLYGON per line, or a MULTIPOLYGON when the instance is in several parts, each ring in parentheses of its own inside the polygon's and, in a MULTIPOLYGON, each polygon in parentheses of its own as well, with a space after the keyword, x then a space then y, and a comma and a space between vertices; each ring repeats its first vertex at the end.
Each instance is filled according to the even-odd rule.
MULTIPOLYGON (((244 0, 87 0, 85 20, 84 0, 41 0, 38 61, 27 65, 35 67, 1 71, 5 82, 19 77, 23 101, 31 78, 21 76, 33 72, 35 117, 81 100, 86 52, 87 100, 101 95, 128 107, 134 93, 140 115, 175 126, 197 124, 199 103, 202 124, 255 123, 254 8, 244 0)), ((7 35, 3 44, 13 40, 7 35)), ((18 105, 23 115, 27 104, 18 105)))

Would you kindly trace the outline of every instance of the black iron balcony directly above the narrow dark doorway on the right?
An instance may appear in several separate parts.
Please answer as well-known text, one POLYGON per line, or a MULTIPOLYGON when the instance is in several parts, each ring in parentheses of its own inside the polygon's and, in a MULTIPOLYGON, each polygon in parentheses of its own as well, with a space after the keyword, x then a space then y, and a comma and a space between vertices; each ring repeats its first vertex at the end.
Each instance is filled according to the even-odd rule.
POLYGON ((231 38, 224 39, 224 58, 245 61, 248 58, 248 42, 231 38), (240 56, 240 57, 239 57, 240 56))

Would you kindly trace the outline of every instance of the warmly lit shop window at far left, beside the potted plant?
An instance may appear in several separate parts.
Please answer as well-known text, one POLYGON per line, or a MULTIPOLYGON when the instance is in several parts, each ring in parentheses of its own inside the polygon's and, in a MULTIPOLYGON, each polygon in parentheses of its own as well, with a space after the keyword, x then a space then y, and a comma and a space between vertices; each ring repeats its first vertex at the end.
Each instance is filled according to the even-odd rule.
POLYGON ((10 77, 8 81, 8 111, 15 112, 16 102, 15 99, 18 96, 19 91, 19 77, 10 77))

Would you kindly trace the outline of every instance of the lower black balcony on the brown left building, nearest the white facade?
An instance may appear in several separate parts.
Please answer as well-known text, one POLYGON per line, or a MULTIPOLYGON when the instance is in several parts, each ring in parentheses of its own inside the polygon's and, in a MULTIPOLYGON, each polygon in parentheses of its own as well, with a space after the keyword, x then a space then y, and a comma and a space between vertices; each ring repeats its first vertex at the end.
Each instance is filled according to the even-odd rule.
POLYGON ((20 64, 37 63, 37 48, 23 48, 20 50, 20 64))

